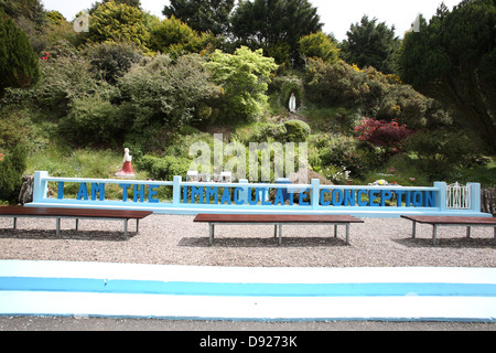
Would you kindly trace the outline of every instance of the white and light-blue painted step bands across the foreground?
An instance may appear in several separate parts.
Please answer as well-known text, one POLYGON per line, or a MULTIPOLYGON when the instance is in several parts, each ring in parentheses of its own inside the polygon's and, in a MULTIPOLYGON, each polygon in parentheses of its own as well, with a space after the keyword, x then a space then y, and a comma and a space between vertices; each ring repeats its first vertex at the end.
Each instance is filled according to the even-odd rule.
POLYGON ((496 269, 0 260, 0 315, 493 323, 496 269))

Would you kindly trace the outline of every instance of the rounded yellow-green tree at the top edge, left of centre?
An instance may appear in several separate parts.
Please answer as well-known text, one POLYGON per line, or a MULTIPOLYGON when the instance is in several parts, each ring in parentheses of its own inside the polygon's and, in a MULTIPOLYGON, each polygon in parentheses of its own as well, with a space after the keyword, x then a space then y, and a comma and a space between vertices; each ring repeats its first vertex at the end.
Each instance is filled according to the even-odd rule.
POLYGON ((89 36, 95 42, 132 42, 144 47, 149 33, 141 10, 109 1, 100 4, 91 14, 89 36))

